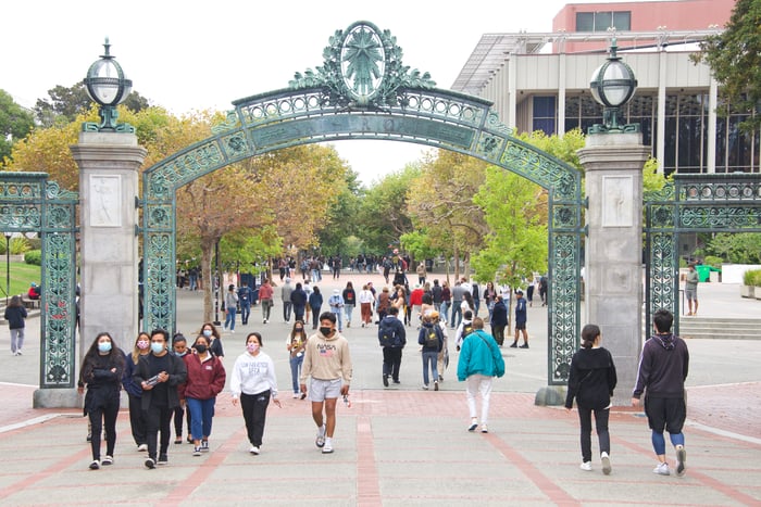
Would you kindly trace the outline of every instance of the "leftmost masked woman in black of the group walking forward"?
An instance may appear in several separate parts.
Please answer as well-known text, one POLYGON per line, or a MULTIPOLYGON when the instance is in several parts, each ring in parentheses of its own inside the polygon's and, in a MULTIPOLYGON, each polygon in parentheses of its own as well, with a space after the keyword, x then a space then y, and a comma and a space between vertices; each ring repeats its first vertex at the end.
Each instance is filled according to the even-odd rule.
POLYGON ((90 470, 101 465, 112 465, 116 446, 116 417, 118 416, 120 381, 124 375, 124 352, 114 345, 111 334, 99 333, 85 354, 79 371, 77 391, 85 392, 85 416, 91 428, 90 447, 92 461, 90 470), (105 430, 105 456, 100 458, 100 435, 105 430))

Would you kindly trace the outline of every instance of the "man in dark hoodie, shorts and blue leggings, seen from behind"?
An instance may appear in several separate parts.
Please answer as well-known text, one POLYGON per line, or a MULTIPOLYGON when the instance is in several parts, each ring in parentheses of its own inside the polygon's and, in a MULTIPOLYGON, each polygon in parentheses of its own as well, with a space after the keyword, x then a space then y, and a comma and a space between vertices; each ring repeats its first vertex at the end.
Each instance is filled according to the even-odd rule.
POLYGON ((685 341, 671 332, 674 324, 671 312, 661 308, 652 320, 656 333, 643 347, 632 406, 638 406, 645 393, 645 414, 652 430, 652 447, 658 457, 653 472, 659 476, 671 473, 665 458, 665 430, 676 451, 676 474, 682 477, 687 460, 682 429, 687 417, 685 380, 689 370, 689 352, 685 341))

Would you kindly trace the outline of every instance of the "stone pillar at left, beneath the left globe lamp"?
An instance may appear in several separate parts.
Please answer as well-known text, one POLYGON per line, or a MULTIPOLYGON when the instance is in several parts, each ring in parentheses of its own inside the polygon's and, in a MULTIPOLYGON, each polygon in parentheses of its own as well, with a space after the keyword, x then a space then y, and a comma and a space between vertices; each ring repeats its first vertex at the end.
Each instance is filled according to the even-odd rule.
POLYGON ((99 332, 132 350, 138 331, 138 181, 145 148, 126 132, 82 132, 79 165, 80 356, 99 332))

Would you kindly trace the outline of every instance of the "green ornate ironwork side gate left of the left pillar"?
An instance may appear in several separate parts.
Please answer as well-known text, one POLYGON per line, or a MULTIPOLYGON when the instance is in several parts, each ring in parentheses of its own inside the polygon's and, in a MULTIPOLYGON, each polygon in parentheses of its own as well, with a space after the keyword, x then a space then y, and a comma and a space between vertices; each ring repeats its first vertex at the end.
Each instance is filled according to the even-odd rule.
POLYGON ((76 326, 77 194, 45 173, 0 173, 0 228, 39 232, 40 388, 73 388, 76 326))

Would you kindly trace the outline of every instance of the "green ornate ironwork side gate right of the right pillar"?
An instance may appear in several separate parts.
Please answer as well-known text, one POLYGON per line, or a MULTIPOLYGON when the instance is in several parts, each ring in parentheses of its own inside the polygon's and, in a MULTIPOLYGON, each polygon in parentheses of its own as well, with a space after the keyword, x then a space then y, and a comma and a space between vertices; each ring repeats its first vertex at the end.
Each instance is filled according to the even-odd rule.
POLYGON ((659 308, 679 313, 679 235, 761 232, 761 175, 675 175, 672 183, 645 195, 645 213, 649 322, 659 308))

